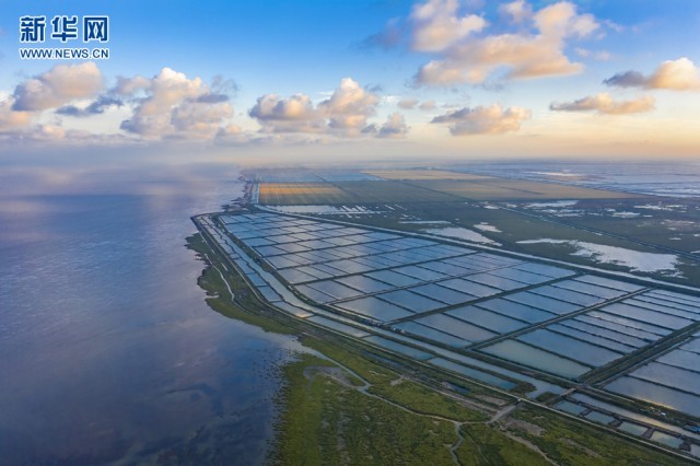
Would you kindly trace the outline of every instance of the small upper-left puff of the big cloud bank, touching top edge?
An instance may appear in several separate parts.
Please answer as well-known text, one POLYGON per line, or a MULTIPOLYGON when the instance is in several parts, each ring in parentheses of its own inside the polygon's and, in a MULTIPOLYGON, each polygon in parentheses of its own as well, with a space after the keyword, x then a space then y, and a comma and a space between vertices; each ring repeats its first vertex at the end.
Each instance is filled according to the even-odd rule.
POLYGON ((412 48, 417 51, 441 51, 486 26, 476 14, 459 16, 457 0, 428 0, 416 4, 409 18, 412 48))

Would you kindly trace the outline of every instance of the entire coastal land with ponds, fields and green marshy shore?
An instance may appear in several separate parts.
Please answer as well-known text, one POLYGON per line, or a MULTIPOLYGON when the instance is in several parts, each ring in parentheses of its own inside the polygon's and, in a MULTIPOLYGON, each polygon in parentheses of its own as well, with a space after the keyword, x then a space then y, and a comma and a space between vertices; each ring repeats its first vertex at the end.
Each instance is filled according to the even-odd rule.
POLYGON ((700 457, 700 193, 523 166, 252 168, 194 218, 210 306, 318 351, 273 461, 700 457))

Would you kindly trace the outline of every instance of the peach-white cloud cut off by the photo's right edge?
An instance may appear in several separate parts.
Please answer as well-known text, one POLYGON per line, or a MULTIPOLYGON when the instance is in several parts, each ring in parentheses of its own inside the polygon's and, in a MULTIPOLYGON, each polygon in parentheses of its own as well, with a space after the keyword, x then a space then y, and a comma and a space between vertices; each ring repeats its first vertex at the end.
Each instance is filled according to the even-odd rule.
POLYGON ((627 71, 606 79, 604 83, 619 88, 700 91, 700 69, 690 59, 681 57, 662 62, 648 77, 639 71, 627 71))

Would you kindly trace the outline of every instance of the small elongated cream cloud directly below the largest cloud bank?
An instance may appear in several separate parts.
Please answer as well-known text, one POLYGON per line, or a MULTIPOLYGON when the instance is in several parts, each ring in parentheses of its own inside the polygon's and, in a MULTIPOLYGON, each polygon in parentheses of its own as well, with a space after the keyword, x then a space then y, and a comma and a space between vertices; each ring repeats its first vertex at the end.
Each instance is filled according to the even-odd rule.
POLYGON ((462 108, 432 119, 433 124, 450 124, 453 136, 500 135, 517 131, 521 124, 532 116, 522 107, 503 109, 499 104, 489 107, 462 108))

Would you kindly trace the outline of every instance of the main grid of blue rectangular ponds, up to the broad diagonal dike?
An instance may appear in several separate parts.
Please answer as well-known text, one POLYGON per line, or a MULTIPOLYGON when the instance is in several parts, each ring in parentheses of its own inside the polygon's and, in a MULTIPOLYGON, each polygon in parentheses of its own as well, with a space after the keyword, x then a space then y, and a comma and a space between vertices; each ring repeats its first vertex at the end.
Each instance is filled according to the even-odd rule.
POLYGON ((564 378, 700 321, 692 295, 561 266, 281 214, 220 221, 298 292, 342 315, 451 348, 487 342, 479 351, 564 378))

